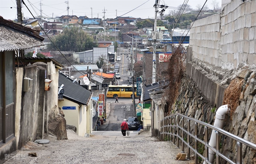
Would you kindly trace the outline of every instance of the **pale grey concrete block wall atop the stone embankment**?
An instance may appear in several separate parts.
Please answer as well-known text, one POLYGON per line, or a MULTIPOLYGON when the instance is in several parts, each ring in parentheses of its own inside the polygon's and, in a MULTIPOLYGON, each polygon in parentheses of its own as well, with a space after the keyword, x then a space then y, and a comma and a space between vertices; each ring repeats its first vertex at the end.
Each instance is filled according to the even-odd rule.
POLYGON ((229 70, 255 65, 255 6, 255 0, 233 0, 221 14, 195 21, 190 31, 193 57, 229 70))

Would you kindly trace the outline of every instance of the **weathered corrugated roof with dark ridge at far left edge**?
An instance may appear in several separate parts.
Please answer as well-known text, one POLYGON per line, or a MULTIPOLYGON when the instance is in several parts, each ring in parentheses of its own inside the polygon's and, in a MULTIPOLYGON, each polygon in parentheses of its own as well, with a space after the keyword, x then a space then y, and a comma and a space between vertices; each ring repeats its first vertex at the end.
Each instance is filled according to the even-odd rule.
POLYGON ((0 16, 0 52, 26 50, 44 44, 37 30, 3 19, 0 16))

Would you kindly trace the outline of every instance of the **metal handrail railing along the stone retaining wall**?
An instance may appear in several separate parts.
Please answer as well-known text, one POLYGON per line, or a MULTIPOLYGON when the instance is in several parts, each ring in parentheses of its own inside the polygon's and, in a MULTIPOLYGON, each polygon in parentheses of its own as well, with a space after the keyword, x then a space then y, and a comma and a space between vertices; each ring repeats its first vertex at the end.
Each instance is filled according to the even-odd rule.
POLYGON ((211 164, 209 162, 209 149, 213 150, 213 152, 216 153, 216 164, 220 164, 220 159, 225 159, 227 162, 231 164, 242 164, 242 145, 246 145, 254 150, 256 150, 256 144, 251 143, 250 141, 247 141, 241 137, 238 137, 234 134, 231 134, 230 132, 227 132, 221 128, 218 128, 216 126, 210 125, 208 123, 187 117, 183 114, 172 114, 171 116, 166 116, 160 121, 160 140, 164 141, 168 138, 172 138, 173 144, 175 144, 175 138, 176 138, 176 144, 177 147, 179 147, 180 140, 181 140, 181 152, 184 153, 184 144, 187 146, 187 159, 190 159, 190 149, 194 151, 195 153, 195 164, 198 163, 198 156, 200 156, 205 163, 211 164), (181 117, 181 120, 180 120, 181 117), (187 130, 184 129, 184 119, 187 119, 187 130), (180 126, 181 121, 181 126, 180 126), (194 135, 190 133, 190 122, 195 122, 195 132, 194 135), (204 141, 198 138, 198 124, 204 126, 204 141), (216 148, 209 145, 209 128, 215 130, 216 132, 216 148), (181 131, 181 135, 180 135, 181 131), (176 132, 176 133, 175 133, 176 132), (187 134, 187 141, 184 140, 184 133, 187 134), (229 159, 227 156, 223 155, 220 152, 220 135, 226 135, 227 137, 232 138, 233 140, 236 140, 236 162, 233 162, 231 159, 229 159), (195 145, 194 147, 190 145, 190 137, 194 138, 195 145), (204 155, 200 154, 198 152, 198 142, 204 144, 205 147, 205 153, 204 155))

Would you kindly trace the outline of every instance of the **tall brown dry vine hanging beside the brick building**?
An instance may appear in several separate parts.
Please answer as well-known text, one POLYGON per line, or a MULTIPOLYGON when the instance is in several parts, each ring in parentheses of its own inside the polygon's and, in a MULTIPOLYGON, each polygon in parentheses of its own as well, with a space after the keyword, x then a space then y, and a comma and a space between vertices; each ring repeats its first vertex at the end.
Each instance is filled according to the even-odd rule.
POLYGON ((168 113, 170 113, 171 106, 174 104, 178 96, 178 89, 181 83, 181 78, 183 76, 184 71, 186 70, 186 54, 184 52, 185 48, 179 46, 175 49, 174 53, 172 53, 172 56, 169 60, 168 80, 170 83, 168 90, 168 102, 170 104, 170 107, 168 109, 168 113))

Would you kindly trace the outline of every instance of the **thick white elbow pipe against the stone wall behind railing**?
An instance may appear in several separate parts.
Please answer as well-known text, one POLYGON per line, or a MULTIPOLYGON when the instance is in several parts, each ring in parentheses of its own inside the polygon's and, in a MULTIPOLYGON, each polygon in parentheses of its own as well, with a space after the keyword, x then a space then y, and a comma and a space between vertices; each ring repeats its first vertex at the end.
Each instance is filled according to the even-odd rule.
MULTIPOLYGON (((215 116, 213 126, 222 128, 224 121, 225 121, 225 116, 229 110, 230 110, 229 105, 222 105, 221 107, 219 107, 218 110, 216 111, 216 116, 215 116)), ((215 130, 212 130, 209 145, 216 149, 216 132, 215 132, 215 130)), ((215 155, 215 152, 212 149, 209 149, 209 162, 213 163, 214 155, 215 155)), ((203 164, 206 164, 206 162, 204 161, 203 164)))

